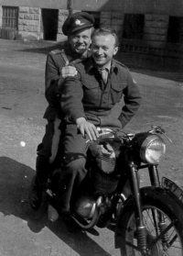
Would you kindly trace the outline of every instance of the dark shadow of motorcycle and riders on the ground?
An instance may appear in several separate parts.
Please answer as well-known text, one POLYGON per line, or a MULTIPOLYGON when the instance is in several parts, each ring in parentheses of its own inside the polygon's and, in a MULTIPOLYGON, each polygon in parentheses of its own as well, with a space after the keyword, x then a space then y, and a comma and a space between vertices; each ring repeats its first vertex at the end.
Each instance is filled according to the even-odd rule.
MULTIPOLYGON (((0 212, 5 216, 13 215, 26 220, 27 226, 35 233, 48 227, 81 256, 92 256, 93 251, 97 252, 97 255, 110 256, 111 254, 103 250, 69 217, 60 217, 57 222, 51 223, 48 221, 46 211, 42 211, 41 216, 35 219, 25 211, 25 208, 22 208, 20 202, 27 199, 29 184, 34 173, 34 170, 25 164, 0 157, 0 212)), ((92 235, 99 236, 99 233, 93 230, 92 235)))

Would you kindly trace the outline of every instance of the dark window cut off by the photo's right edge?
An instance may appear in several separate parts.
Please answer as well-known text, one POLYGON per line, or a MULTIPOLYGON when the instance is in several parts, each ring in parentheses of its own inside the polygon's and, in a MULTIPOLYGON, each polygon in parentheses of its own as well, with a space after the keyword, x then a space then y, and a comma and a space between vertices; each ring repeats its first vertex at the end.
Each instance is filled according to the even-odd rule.
POLYGON ((169 17, 167 41, 183 43, 183 17, 169 17))

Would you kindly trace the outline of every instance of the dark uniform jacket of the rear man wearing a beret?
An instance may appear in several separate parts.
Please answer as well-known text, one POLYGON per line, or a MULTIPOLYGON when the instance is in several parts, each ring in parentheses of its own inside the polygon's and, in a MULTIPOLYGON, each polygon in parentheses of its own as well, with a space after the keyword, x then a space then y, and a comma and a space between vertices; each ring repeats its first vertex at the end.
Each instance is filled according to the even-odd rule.
MULTIPOLYGON (((88 52, 88 56, 91 52, 88 52)), ((64 84, 65 79, 60 77, 61 69, 65 67, 67 57, 70 61, 80 59, 81 55, 73 52, 70 45, 65 45, 61 50, 52 50, 48 53, 45 69, 45 96, 48 101, 48 107, 44 114, 44 118, 48 120, 55 120, 61 113, 60 111, 60 92, 61 87, 64 84), (58 88, 59 79, 61 80, 61 86, 58 88)))

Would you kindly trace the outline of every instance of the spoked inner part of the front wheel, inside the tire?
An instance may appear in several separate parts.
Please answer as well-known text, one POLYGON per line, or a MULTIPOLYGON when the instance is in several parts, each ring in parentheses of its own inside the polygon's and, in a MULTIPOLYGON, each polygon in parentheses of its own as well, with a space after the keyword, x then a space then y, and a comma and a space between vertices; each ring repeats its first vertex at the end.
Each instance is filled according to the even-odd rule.
MULTIPOLYGON (((156 206, 144 206, 143 218, 146 229, 146 243, 149 250, 146 254, 142 254, 139 250, 127 246, 130 251, 129 255, 151 255, 151 256, 182 256, 182 243, 178 235, 178 229, 167 215, 156 206), (167 229, 165 229, 167 228, 167 229), (164 231, 165 230, 165 231, 164 231), (167 230, 167 232, 166 232, 167 230), (160 237, 162 234, 162 237, 160 237), (156 244, 156 238, 159 238, 156 244), (153 245, 153 246, 150 246, 153 245)), ((130 232, 126 232, 125 240, 137 246, 135 232, 135 215, 132 215, 129 220, 128 228, 130 232)))

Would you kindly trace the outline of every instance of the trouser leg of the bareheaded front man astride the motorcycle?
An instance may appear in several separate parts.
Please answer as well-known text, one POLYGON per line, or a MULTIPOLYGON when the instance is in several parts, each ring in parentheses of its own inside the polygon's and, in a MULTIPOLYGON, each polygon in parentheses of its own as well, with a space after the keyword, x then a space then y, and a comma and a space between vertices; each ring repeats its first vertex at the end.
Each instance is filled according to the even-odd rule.
POLYGON ((63 164, 61 166, 58 203, 61 212, 70 211, 70 201, 77 187, 85 178, 88 144, 78 132, 76 125, 67 125, 63 136, 63 164))

